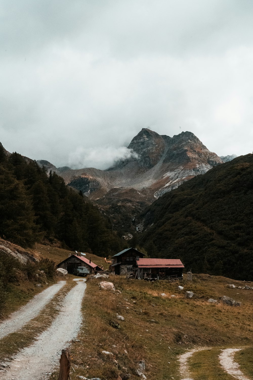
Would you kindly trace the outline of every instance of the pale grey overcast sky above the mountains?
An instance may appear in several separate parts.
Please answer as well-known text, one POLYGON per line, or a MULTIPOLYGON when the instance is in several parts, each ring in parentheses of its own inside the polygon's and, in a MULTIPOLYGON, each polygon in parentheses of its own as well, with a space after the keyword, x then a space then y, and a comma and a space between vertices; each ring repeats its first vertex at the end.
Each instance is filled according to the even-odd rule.
POLYGON ((0 141, 105 168, 150 128, 253 150, 251 0, 0 0, 0 141))

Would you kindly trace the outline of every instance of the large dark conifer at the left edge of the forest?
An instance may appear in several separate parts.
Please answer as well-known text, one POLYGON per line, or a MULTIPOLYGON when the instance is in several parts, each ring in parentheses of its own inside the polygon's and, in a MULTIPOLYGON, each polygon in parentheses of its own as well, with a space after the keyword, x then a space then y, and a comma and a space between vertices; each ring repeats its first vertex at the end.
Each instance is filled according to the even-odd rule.
POLYGON ((31 197, 22 181, 0 166, 0 236, 22 247, 38 239, 31 197))

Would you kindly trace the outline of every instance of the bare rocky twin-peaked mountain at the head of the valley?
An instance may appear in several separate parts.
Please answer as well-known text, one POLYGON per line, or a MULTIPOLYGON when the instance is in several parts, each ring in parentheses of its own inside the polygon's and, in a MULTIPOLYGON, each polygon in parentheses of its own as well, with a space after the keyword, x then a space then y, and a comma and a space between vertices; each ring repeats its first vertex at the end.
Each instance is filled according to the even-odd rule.
MULTIPOLYGON (((94 168, 64 170, 65 182, 91 198, 102 199, 113 191, 122 198, 129 189, 134 196, 150 202, 182 182, 204 174, 223 161, 192 133, 182 132, 172 138, 143 128, 130 142, 134 155, 120 160, 108 170, 94 168)), ((38 161, 50 167, 47 161, 38 161)), ((57 169, 57 168, 55 168, 57 169)), ((58 169, 57 169, 58 170, 58 169)), ((111 194, 112 195, 112 194, 111 194)))

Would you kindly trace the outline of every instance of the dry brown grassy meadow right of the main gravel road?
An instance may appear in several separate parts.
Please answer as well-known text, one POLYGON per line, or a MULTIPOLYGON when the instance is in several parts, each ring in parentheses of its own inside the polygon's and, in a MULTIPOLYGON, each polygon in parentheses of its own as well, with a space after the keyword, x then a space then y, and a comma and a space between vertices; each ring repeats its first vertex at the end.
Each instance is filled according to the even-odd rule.
POLYGON ((99 279, 87 282, 83 301, 85 323, 80 342, 71 347, 76 371, 71 374, 72 380, 77 375, 111 380, 121 373, 130 373, 135 379, 134 370, 141 359, 147 364, 145 375, 149 380, 171 376, 179 379, 178 355, 187 348, 253 344, 253 291, 227 288, 232 280, 199 275, 193 283, 185 281, 184 291, 196 293, 196 298, 189 300, 184 291, 177 290, 178 283, 149 283, 119 276, 111 276, 110 281, 121 294, 100 290, 99 279), (166 293, 167 298, 160 293, 166 293), (170 298, 171 294, 176 298, 170 298), (223 295, 242 300, 242 306, 207 302, 208 298, 223 295), (118 321, 116 313, 123 315, 125 321, 118 321), (120 329, 113 328, 112 321, 120 329), (103 350, 113 356, 103 355, 103 350))

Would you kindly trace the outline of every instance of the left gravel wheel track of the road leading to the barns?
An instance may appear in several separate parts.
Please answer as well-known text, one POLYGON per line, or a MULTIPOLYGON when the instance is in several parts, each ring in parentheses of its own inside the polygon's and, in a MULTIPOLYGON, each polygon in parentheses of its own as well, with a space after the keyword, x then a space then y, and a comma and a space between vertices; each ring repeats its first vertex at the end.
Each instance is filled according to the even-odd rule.
POLYGON ((59 281, 57 284, 36 294, 25 306, 22 306, 19 310, 12 313, 8 319, 0 323, 0 339, 11 332, 19 330, 27 322, 35 318, 65 284, 66 281, 59 281))

